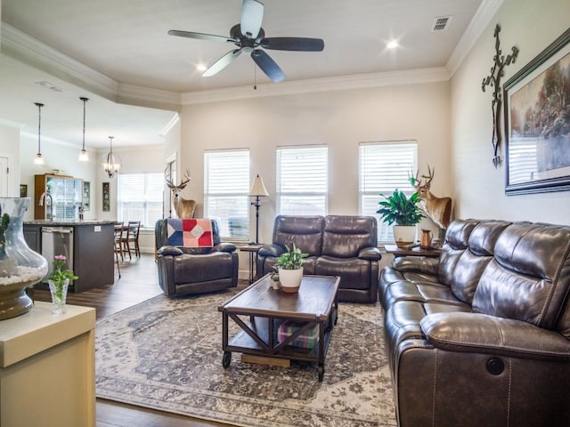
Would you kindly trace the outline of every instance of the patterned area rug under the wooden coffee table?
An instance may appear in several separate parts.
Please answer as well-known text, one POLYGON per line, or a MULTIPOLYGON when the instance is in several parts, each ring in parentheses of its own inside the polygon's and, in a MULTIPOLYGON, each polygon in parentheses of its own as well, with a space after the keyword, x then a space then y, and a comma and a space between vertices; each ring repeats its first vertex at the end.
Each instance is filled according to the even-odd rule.
POLYGON ((396 425, 379 305, 339 304, 319 383, 306 362, 269 367, 233 353, 222 367, 217 307, 235 292, 159 295, 99 320, 97 397, 247 427, 396 425))

